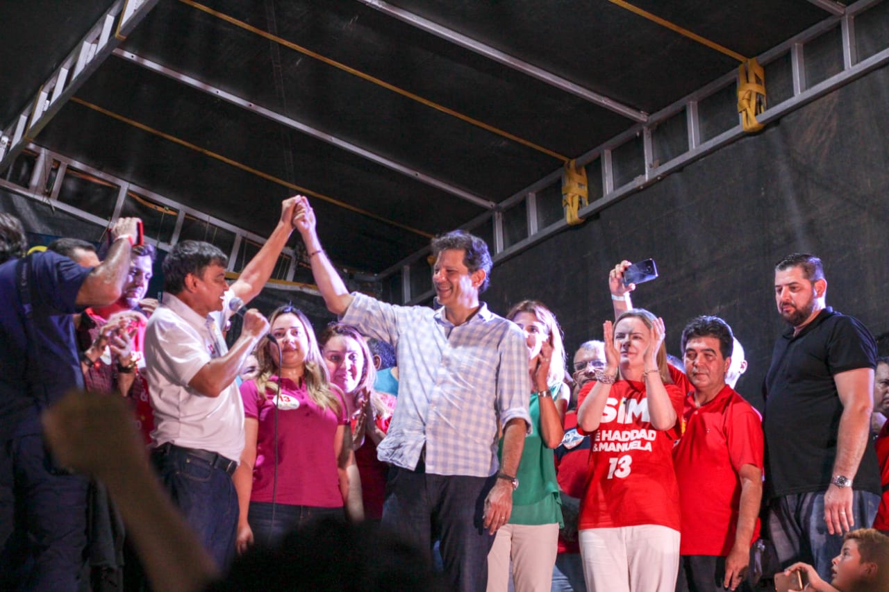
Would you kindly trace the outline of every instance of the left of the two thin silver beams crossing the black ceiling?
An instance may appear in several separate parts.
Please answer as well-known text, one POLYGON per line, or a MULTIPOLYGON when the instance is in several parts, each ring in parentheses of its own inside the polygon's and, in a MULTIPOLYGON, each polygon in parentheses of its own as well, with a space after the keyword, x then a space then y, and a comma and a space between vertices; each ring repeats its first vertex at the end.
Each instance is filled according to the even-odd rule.
POLYGON ((386 168, 395 172, 400 172, 405 177, 410 177, 413 180, 418 180, 421 183, 428 185, 429 187, 440 189, 445 193, 448 193, 455 197, 459 197, 460 199, 467 201, 470 204, 475 204, 481 208, 484 208, 485 210, 491 210, 494 206, 496 206, 493 201, 485 199, 484 197, 469 193, 469 191, 465 191, 461 188, 455 187, 450 183, 436 179, 435 177, 430 177, 429 175, 419 172, 416 169, 412 169, 404 164, 386 158, 385 156, 375 154, 370 150, 361 148, 360 146, 348 142, 347 140, 342 140, 341 138, 338 138, 337 136, 334 136, 330 133, 318 130, 311 125, 300 122, 299 120, 293 119, 292 117, 284 116, 283 114, 272 111, 271 109, 261 107, 260 105, 254 103, 252 100, 246 100, 242 97, 238 97, 231 92, 223 91, 218 87, 204 83, 203 81, 200 81, 192 76, 188 76, 187 74, 183 74, 172 68, 167 68, 166 66, 158 64, 155 61, 148 60, 148 58, 143 58, 137 53, 126 52, 118 48, 114 51, 114 55, 116 55, 118 58, 122 58, 134 64, 138 64, 142 68, 151 70, 156 74, 161 74, 163 76, 171 78, 172 80, 176 80, 177 82, 186 84, 196 91, 205 92, 206 94, 212 95, 213 97, 218 97, 219 99, 225 100, 232 105, 236 105, 236 107, 252 111, 252 113, 256 113, 257 115, 266 117, 267 119, 270 119, 271 121, 274 121, 278 124, 286 125, 292 130, 305 133, 306 135, 311 136, 316 140, 321 140, 323 142, 331 144, 332 146, 346 150, 351 154, 361 156, 362 158, 365 158, 372 163, 380 164, 381 166, 385 166, 386 168))

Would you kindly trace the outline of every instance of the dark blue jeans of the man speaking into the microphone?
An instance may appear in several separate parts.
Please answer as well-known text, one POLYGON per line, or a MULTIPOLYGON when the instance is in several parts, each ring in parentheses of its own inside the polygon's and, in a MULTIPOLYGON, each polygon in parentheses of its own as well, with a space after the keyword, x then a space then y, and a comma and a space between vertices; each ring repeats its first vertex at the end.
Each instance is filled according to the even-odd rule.
POLYGON ((224 570, 235 555, 237 536, 237 493, 231 477, 176 447, 152 452, 151 460, 173 503, 224 570))

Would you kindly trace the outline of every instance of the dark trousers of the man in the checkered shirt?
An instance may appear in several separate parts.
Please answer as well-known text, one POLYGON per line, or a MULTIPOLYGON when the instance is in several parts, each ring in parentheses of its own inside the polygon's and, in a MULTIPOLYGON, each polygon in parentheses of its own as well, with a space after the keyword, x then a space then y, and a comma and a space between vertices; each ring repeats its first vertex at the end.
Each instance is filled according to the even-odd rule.
POLYGON ((412 542, 430 564, 433 535, 441 540, 445 580, 453 590, 476 592, 488 583, 493 535, 482 522, 485 497, 496 476, 443 476, 389 468, 382 525, 412 542))

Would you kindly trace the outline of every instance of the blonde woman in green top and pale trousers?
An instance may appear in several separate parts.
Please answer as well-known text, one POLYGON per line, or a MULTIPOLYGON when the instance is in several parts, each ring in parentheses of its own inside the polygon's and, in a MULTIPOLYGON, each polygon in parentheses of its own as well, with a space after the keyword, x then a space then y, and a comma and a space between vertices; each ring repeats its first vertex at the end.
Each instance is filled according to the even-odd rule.
POLYGON ((549 592, 562 525, 553 449, 562 443, 562 420, 571 396, 563 381, 565 346, 556 316, 541 302, 523 300, 507 318, 525 332, 528 345, 532 433, 525 437, 512 515, 497 531, 488 554, 487 589, 506 592, 511 559, 516 592, 549 592))

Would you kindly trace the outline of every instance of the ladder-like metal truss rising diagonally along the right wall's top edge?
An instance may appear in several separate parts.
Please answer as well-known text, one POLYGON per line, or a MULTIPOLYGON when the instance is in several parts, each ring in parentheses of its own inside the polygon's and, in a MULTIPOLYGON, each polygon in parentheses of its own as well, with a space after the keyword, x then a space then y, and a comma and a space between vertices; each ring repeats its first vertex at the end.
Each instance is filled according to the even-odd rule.
MULTIPOLYGON (((867 11, 869 8, 881 4, 889 0, 859 0, 854 4, 845 7, 845 11, 835 16, 830 16, 825 20, 813 25, 797 36, 791 37, 782 44, 775 46, 773 49, 757 56, 759 63, 766 66, 779 58, 789 55, 790 58, 790 75, 793 81, 793 94, 786 100, 773 103, 765 110, 764 113, 757 116, 757 120, 762 124, 769 124, 777 121, 782 116, 786 116, 797 108, 804 107, 806 104, 820 98, 821 96, 833 92, 845 84, 849 84, 865 76, 870 71, 889 64, 889 47, 882 51, 876 52, 866 60, 859 60, 857 55, 857 43, 855 39, 854 18, 867 11), (812 42, 823 34, 835 31, 840 28, 843 52, 843 70, 834 76, 829 76, 818 84, 809 85, 805 80, 805 44, 812 42)), ((820 3, 821 4, 821 3, 820 3)), ((833 3, 830 3, 833 4, 833 3)), ((833 11, 831 11, 833 12, 833 11)), ((613 139, 589 150, 583 156, 579 156, 576 160, 577 164, 586 166, 598 160, 601 164, 602 178, 601 197, 591 202, 588 206, 581 208, 578 215, 587 218, 596 212, 604 210, 609 205, 621 200, 622 198, 636 193, 653 183, 661 180, 671 172, 677 172, 688 164, 708 155, 719 148, 741 140, 749 134, 741 128, 741 116, 738 116, 738 123, 728 130, 718 133, 716 136, 707 140, 701 140, 701 116, 699 113, 699 103, 706 100, 717 92, 725 91, 725 88, 736 83, 737 73, 730 72, 722 76, 714 82, 707 84, 696 92, 686 96, 682 100, 677 100, 667 108, 661 109, 657 113, 649 116, 645 124, 637 124, 626 132, 615 136, 613 139), (664 163, 655 162, 653 156, 653 134, 658 133, 657 127, 663 124, 673 116, 677 116, 685 112, 686 128, 687 128, 687 149, 685 152, 671 158, 664 163), (615 187, 615 170, 613 163, 613 153, 616 149, 621 148, 629 141, 641 140, 642 151, 639 158, 642 160, 641 167, 644 171, 633 180, 615 187)), ((766 85, 767 85, 766 81, 766 85)), ((518 253, 525 251, 534 244, 540 243, 549 236, 553 236, 558 232, 568 228, 568 223, 564 217, 545 228, 540 228, 541 220, 539 210, 539 200, 537 194, 546 188, 558 186, 562 182, 562 170, 549 173, 543 179, 533 183, 532 185, 522 189, 513 196, 509 196, 506 200, 497 205, 492 212, 485 212, 477 216, 474 220, 469 220, 461 228, 467 230, 475 230, 482 228, 485 224, 493 225, 489 229, 489 233, 493 234, 493 262, 499 263, 516 256, 518 253), (528 220, 526 236, 512 244, 506 244, 505 231, 503 225, 504 212, 510 211, 512 208, 525 207, 526 217, 528 220)), ((595 182, 590 180, 590 183, 595 182)), ((418 304, 430 300, 435 294, 429 290, 420 294, 414 294, 411 290, 411 274, 414 266, 422 265, 423 260, 428 256, 429 249, 425 248, 399 261, 396 265, 380 272, 377 275, 378 281, 384 282, 389 276, 401 274, 402 299, 405 304, 418 304)), ((417 270, 414 269, 414 272, 417 270)))

